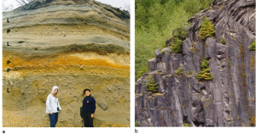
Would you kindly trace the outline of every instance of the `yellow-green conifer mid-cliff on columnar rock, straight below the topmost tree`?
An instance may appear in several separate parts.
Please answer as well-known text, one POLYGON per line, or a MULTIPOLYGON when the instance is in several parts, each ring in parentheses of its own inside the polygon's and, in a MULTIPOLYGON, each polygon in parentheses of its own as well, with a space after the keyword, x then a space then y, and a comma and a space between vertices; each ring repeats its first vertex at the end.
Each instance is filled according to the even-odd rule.
POLYGON ((201 61, 201 71, 196 75, 196 78, 199 80, 212 80, 214 76, 211 74, 211 70, 209 68, 209 63, 206 58, 201 61))

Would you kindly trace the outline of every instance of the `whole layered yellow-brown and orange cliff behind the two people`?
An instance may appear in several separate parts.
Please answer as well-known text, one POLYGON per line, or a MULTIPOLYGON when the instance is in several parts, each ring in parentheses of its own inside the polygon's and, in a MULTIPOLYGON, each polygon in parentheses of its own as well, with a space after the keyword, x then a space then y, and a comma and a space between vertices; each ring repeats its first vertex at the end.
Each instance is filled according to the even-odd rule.
POLYGON ((53 86, 57 126, 81 126, 85 88, 96 98, 95 126, 129 126, 129 13, 93 0, 35 0, 3 13, 3 126, 49 126, 53 86))

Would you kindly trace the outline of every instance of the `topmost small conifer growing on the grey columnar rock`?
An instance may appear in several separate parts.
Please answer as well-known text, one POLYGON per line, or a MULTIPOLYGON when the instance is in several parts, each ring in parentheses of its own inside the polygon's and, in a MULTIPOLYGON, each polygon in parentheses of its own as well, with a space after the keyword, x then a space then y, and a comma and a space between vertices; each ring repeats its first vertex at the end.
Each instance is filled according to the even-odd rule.
POLYGON ((201 28, 199 30, 198 36, 202 39, 205 40, 207 37, 214 36, 215 31, 214 31, 214 26, 212 22, 206 17, 205 20, 201 23, 201 28))

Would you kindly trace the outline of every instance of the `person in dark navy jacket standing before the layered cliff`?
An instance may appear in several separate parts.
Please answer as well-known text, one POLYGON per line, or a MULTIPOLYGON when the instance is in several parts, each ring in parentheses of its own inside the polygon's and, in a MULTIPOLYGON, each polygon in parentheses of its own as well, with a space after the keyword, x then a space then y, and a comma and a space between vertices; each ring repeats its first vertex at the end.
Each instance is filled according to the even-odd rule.
POLYGON ((83 100, 84 127, 93 127, 93 117, 96 109, 95 98, 91 97, 90 89, 84 89, 85 98, 83 100))

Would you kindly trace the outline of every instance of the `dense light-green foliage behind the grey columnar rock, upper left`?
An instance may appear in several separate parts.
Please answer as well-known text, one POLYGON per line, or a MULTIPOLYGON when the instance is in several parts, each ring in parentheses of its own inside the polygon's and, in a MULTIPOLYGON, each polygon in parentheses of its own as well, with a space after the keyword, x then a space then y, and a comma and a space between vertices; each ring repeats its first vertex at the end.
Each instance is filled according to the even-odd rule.
MULTIPOLYGON (((172 31, 184 27, 189 18, 213 0, 136 0, 135 73, 144 71, 154 50, 165 46, 172 31), (196 5, 196 6, 195 6, 196 5)), ((189 25, 188 25, 189 26, 189 25)), ((179 42, 179 41, 177 41, 179 42)), ((137 79, 139 76, 137 75, 137 79)), ((137 80, 136 79, 136 80, 137 80)))

